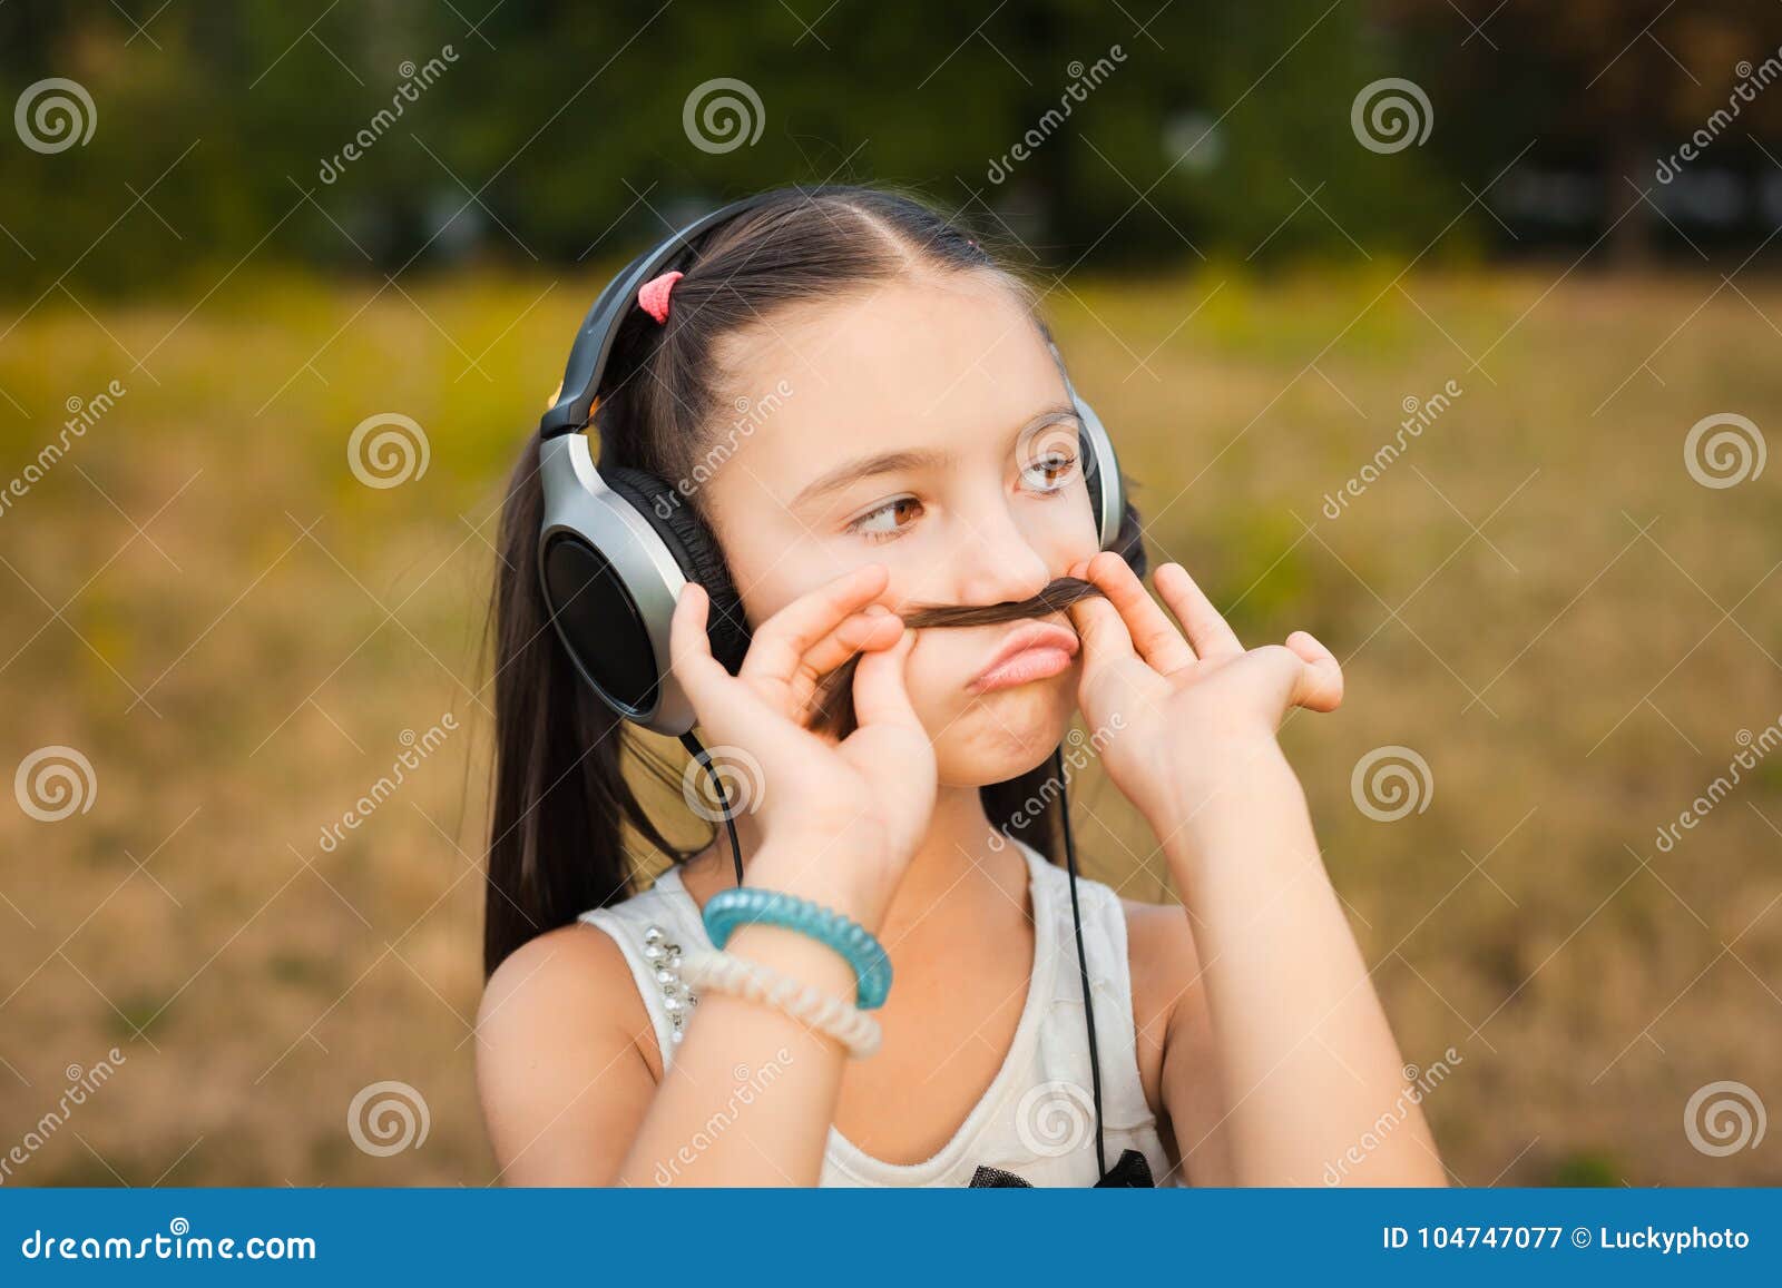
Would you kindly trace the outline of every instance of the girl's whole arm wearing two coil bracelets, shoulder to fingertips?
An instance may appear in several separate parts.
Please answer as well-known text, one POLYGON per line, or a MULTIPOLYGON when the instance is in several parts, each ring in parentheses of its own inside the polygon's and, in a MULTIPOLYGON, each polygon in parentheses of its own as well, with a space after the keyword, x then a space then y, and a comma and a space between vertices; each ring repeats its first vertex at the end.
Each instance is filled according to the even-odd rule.
MULTIPOLYGON (((887 583, 857 568, 775 613, 741 672, 711 656, 707 599, 675 609, 675 677, 716 746, 759 761, 763 843, 748 884, 843 912, 877 932, 934 811, 934 748, 909 705, 914 645, 893 613, 861 611, 887 583), (804 720, 816 682, 855 652, 859 727, 841 743, 804 720), (898 766, 889 779, 886 764, 898 766)), ((852 998, 841 955, 779 926, 725 946, 830 996, 852 998)), ((816 1185, 848 1055, 775 1007, 706 990, 672 1071, 631 971, 602 932, 567 926, 513 953, 478 1021, 479 1080, 503 1176, 538 1185, 816 1185)))

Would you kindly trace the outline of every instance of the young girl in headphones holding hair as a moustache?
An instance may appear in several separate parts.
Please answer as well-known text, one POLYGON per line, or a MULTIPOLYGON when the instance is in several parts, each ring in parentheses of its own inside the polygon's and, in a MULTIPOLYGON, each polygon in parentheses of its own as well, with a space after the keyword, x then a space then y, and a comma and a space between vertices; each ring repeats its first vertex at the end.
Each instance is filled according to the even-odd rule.
MULTIPOLYGON (((601 469, 677 481, 741 597, 740 672, 715 661, 711 597, 690 583, 672 673, 738 773, 747 885, 857 923, 893 985, 862 1055, 684 978, 734 855, 722 830, 697 853, 658 830, 627 757, 679 771, 551 629, 535 436, 495 607, 478 1064, 503 1179, 1091 1186, 1119 1158, 1108 1183, 1442 1185, 1276 743, 1290 707, 1336 707, 1338 664, 1303 631, 1246 648, 1167 563, 1173 620, 1140 583, 1130 509, 1099 549, 1035 294, 921 203, 854 187, 773 192, 675 267, 617 331, 601 469), (1066 577, 1098 593, 1028 622, 903 624, 1066 577), (845 664, 838 741, 818 714, 845 664), (1073 745, 1144 816, 1146 862, 1169 864, 1183 907, 1055 866, 1053 752, 1078 713, 1092 732, 1073 745), (642 893, 627 841, 670 860, 642 893)), ((723 950, 834 1005, 857 996, 855 966, 798 928, 745 921, 723 950)))

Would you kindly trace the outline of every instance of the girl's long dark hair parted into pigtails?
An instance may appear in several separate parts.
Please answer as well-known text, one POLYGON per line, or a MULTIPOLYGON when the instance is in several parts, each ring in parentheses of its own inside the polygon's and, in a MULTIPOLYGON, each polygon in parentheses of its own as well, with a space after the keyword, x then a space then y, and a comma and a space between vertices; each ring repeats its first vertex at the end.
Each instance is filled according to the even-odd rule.
MULTIPOLYGON (((775 310, 900 274, 987 273, 1019 296, 1044 333, 1037 292, 985 239, 920 198, 875 187, 788 187, 707 230, 677 262, 674 312, 658 326, 634 310, 620 324, 593 429, 601 461, 686 477, 723 417, 720 344, 775 310)), ((1050 338, 1050 337, 1048 337, 1050 338)), ((627 839, 683 862, 650 819, 627 764, 677 784, 683 766, 650 748, 579 679, 551 627, 538 584, 544 490, 538 436, 508 483, 492 602, 495 647, 495 784, 488 839, 483 967, 579 914, 625 900, 634 864, 627 839), (629 837, 627 837, 629 832, 629 837)), ((699 504, 699 497, 691 499, 699 504)), ((1144 572, 1139 518, 1128 508, 1121 554, 1144 572)), ((1053 862, 1062 853, 1050 764, 982 787, 994 827, 1053 862), (1032 812, 1034 800, 1046 807, 1032 812)))

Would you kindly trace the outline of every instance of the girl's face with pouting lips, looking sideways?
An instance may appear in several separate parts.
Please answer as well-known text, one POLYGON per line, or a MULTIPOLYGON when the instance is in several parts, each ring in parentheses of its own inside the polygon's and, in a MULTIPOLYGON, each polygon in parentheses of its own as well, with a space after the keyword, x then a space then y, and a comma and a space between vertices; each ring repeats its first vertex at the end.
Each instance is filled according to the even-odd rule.
MULTIPOLYGON (((805 305, 734 337, 723 358, 748 410, 718 428, 697 486, 752 624, 864 563, 891 570, 893 609, 987 606, 1096 552, 1064 378, 993 278, 805 305)), ((943 784, 1012 779, 1059 745, 1080 656, 1062 613, 1042 622, 916 640, 909 693, 943 784)))

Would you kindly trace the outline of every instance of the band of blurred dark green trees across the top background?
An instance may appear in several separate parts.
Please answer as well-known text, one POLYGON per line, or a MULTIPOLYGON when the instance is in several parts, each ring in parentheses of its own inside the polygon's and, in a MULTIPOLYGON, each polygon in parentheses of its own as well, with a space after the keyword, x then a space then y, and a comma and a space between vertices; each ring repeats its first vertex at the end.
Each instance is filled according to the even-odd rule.
MULTIPOLYGON (((1529 139, 1623 176, 1782 39, 1770 0, 139 0, 0 5, 0 84, 50 77, 84 146, 7 139, 0 289, 208 289, 248 258, 394 271, 606 257, 779 182, 916 185, 1051 269, 1422 249, 1529 139), (1465 16, 1465 11, 1475 11, 1465 16), (451 57, 446 52, 451 50, 451 57), (415 71, 438 66, 431 78, 415 71), (1372 82, 1424 146, 1360 146, 1372 82), (729 105, 729 107, 727 107, 729 105), (745 143, 729 146, 741 128, 745 143), (1019 144, 1019 146, 1018 146, 1019 144)), ((1739 128, 1775 128, 1782 94, 1739 128)), ((1638 248, 1650 210, 1616 228, 1638 248)), ((1465 240, 1474 216, 1452 233, 1465 240)))

